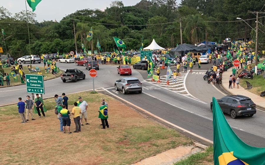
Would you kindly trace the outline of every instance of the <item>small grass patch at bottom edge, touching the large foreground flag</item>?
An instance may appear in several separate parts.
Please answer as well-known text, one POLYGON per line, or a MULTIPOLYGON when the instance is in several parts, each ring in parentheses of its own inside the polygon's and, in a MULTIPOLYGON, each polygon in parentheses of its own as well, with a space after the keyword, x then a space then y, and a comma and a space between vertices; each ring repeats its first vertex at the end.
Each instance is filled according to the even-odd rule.
POLYGON ((197 152, 196 154, 192 154, 186 159, 176 162, 174 165, 193 165, 193 164, 213 165, 213 146, 209 146, 203 152, 197 152))

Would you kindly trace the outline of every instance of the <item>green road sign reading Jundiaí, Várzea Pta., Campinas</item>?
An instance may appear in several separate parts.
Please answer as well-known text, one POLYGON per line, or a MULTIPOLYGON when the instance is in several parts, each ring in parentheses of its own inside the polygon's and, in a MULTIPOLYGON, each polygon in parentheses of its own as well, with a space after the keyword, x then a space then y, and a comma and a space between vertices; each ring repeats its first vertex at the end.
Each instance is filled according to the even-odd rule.
POLYGON ((44 81, 42 75, 26 74, 27 93, 44 94, 44 81))

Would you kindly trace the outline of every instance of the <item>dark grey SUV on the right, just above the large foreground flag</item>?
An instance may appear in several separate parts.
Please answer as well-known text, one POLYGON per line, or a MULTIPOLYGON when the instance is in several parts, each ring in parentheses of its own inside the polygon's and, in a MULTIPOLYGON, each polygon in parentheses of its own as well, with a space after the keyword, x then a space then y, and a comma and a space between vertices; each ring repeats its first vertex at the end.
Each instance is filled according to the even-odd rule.
MULTIPOLYGON (((231 118, 237 116, 248 115, 253 116, 256 113, 256 104, 253 103, 251 98, 242 95, 224 96, 217 100, 223 113, 227 113, 231 118)), ((211 109, 212 109, 211 102, 211 109)))

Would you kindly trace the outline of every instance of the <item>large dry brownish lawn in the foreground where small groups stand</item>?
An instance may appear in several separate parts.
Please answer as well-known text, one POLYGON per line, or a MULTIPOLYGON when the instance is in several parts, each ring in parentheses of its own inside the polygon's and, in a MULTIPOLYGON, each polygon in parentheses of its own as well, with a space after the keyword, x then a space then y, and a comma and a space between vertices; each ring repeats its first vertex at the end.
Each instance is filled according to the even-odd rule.
MULTIPOLYGON (((144 118, 135 110, 102 93, 68 95, 68 109, 82 96, 88 103, 88 122, 82 132, 59 132, 54 99, 44 100, 47 118, 20 124, 16 105, 0 107, 1 164, 132 164, 183 144, 191 139, 144 118), (110 128, 100 129, 100 98, 108 103, 110 128), (12 125, 12 126, 10 126, 12 125)), ((23 98, 24 99, 24 98, 23 98)))

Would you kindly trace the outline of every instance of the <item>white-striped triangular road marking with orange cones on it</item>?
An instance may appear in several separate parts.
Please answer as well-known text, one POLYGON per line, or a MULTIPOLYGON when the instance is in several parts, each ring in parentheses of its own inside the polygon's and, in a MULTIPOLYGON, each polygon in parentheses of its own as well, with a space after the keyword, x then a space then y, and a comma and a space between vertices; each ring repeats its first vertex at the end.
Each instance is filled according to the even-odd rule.
POLYGON ((146 79, 145 81, 148 81, 152 84, 156 84, 162 88, 165 89, 169 89, 170 91, 173 91, 175 93, 179 93, 181 95, 185 95, 185 96, 190 96, 193 97, 187 90, 186 86, 185 86, 185 79, 188 76, 188 72, 184 73, 184 72, 180 72, 180 76, 177 76, 177 80, 176 82, 172 82, 173 81, 173 74, 171 75, 172 78, 168 79, 169 80, 169 85, 167 85, 167 81, 166 81, 166 75, 164 76, 160 76, 160 83, 156 82, 156 81, 152 81, 152 78, 150 79, 146 79))

